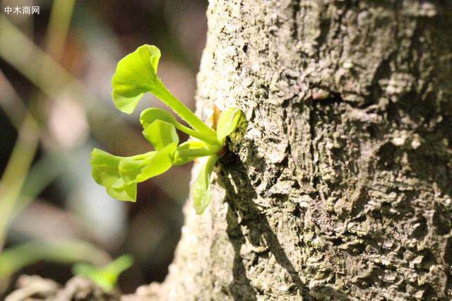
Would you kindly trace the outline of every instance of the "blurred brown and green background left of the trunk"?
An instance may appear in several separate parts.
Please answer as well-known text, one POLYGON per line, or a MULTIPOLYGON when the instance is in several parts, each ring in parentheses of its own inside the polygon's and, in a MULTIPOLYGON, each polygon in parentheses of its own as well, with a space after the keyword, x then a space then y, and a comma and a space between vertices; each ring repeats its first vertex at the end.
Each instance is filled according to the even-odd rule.
POLYGON ((94 182, 90 151, 151 149, 138 116, 160 102, 148 95, 127 115, 110 97, 117 62, 140 45, 162 50, 162 81, 194 108, 206 2, 0 1, 0 300, 20 274, 65 283, 73 262, 121 254, 135 259, 124 293, 165 278, 191 165, 139 184, 137 202, 125 203, 94 182))

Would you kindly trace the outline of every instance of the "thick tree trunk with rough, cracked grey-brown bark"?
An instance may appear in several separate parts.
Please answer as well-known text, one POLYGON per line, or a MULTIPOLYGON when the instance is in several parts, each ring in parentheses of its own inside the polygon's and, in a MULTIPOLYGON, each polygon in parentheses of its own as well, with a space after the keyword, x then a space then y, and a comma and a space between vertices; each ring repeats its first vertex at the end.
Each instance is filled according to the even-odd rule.
POLYGON ((211 0, 198 112, 246 115, 156 300, 452 299, 451 1, 211 0))

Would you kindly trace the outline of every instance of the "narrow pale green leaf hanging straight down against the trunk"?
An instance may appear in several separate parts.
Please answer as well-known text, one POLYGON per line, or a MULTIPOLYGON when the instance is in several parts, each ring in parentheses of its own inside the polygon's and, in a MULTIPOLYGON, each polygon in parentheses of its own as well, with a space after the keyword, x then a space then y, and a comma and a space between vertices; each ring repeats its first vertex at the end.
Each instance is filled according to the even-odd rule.
POLYGON ((198 177, 191 186, 191 199, 196 214, 202 214, 210 203, 210 175, 218 160, 217 155, 208 157, 199 170, 198 177))

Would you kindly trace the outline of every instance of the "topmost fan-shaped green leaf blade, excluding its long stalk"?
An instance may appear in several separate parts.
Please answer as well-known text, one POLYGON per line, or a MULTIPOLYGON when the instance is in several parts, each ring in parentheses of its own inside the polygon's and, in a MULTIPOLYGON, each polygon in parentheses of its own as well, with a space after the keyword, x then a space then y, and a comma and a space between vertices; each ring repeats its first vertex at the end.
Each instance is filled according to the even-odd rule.
POLYGON ((160 85, 157 78, 160 55, 157 47, 143 45, 119 61, 112 79, 112 98, 118 110, 130 114, 144 93, 160 85))

